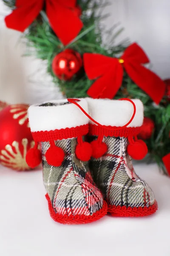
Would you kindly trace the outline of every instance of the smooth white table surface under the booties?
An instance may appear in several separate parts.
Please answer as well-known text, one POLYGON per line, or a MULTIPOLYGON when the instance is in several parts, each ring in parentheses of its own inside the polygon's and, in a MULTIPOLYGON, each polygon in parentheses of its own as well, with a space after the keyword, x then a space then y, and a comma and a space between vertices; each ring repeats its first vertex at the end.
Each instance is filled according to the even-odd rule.
POLYGON ((156 195, 156 214, 63 225, 48 213, 40 170, 0 166, 0 256, 170 256, 170 178, 156 164, 135 168, 156 195))

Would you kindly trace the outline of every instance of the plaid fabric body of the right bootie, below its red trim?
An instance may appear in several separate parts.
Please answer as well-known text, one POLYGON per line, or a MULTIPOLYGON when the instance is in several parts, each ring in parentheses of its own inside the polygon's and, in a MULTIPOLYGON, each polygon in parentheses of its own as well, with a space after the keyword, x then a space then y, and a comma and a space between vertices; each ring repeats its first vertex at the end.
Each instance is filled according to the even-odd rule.
POLYGON ((108 145, 108 152, 99 159, 92 158, 90 168, 108 204, 121 207, 153 205, 152 190, 136 175, 127 155, 127 138, 104 137, 103 141, 108 145))

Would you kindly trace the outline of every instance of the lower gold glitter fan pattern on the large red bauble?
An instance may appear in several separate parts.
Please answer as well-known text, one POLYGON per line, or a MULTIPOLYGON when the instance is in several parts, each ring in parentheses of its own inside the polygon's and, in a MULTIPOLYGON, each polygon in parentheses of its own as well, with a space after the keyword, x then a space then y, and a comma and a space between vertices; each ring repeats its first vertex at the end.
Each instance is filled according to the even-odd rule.
MULTIPOLYGON (((30 147, 34 147, 35 142, 31 141, 30 147)), ((1 164, 6 167, 15 169, 17 171, 29 170, 30 167, 26 163, 26 153, 28 147, 28 140, 24 138, 22 140, 23 153, 19 148, 19 143, 14 141, 12 145, 6 145, 5 149, 0 152, 1 164)))

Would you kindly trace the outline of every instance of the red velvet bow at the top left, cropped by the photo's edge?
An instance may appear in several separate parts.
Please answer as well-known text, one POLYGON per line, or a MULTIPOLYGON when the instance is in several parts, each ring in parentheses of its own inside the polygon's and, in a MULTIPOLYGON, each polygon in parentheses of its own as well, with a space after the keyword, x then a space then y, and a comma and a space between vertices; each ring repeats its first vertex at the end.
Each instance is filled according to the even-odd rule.
POLYGON ((83 26, 79 19, 81 10, 76 2, 76 0, 16 0, 16 9, 5 17, 6 26, 24 32, 45 4, 52 29, 66 45, 78 35, 83 26))

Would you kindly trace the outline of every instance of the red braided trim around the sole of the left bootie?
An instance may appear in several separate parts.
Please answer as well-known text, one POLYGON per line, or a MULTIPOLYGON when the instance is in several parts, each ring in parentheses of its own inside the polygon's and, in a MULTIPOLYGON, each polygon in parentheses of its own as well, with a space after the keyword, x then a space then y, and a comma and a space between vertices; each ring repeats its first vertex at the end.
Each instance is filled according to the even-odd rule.
POLYGON ((99 211, 95 212, 93 215, 67 215, 67 214, 59 214, 56 213, 52 207, 51 200, 49 195, 45 195, 48 201, 48 209, 50 212, 50 216, 54 221, 57 221, 62 224, 85 224, 93 221, 97 221, 100 218, 104 217, 107 214, 108 206, 106 201, 103 201, 103 207, 99 211))

